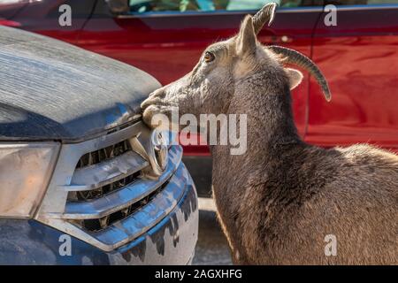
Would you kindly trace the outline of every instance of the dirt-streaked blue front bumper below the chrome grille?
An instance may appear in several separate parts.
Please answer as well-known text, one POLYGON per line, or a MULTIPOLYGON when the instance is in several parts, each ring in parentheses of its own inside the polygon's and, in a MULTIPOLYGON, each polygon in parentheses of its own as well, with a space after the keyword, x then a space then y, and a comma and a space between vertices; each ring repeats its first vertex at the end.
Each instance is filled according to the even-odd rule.
MULTIPOLYGON (((186 171, 184 164, 179 170, 186 171)), ((134 241, 104 252, 35 220, 0 219, 0 264, 189 264, 195 252, 198 208, 188 179, 177 206, 134 241)))

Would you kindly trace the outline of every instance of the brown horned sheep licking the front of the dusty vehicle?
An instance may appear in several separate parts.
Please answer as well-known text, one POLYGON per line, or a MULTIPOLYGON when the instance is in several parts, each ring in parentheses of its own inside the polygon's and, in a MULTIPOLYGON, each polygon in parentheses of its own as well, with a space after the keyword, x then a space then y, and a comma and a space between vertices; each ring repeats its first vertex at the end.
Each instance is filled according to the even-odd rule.
POLYGON ((245 154, 210 147, 213 195, 234 263, 398 264, 398 157, 364 144, 302 142, 290 96, 302 73, 284 64, 309 71, 327 100, 331 94, 308 57, 257 42, 274 11, 265 5, 239 34, 210 45, 191 73, 142 103, 143 119, 150 125, 174 106, 181 114, 247 114, 245 154), (330 234, 336 256, 325 253, 330 234))

